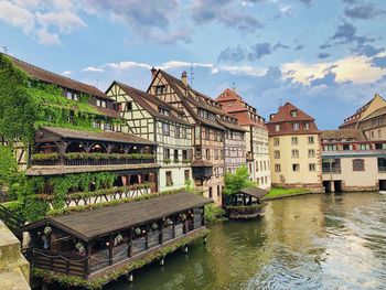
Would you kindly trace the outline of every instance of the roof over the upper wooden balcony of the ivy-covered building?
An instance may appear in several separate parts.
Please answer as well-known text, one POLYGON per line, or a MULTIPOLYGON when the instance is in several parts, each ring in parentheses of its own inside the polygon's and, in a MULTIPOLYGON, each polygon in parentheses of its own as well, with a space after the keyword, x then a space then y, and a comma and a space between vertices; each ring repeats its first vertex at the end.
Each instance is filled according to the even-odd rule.
MULTIPOLYGON (((53 135, 57 135, 62 138, 67 139, 85 139, 85 140, 97 140, 97 141, 111 141, 111 142, 121 142, 121 143, 137 143, 137 144, 156 144, 154 142, 124 132, 114 132, 114 131, 83 131, 74 130, 58 127, 41 127, 41 130, 46 130, 53 135)), ((39 133, 39 132, 37 132, 39 133)))

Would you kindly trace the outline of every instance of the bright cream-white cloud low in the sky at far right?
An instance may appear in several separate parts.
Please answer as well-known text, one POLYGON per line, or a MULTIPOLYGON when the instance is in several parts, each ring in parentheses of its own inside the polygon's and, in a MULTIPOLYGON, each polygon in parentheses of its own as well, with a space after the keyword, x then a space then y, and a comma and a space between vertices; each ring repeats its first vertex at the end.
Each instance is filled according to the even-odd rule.
POLYGON ((322 78, 330 72, 335 74, 336 83, 368 84, 386 75, 386 69, 372 66, 371 60, 365 56, 349 56, 329 63, 293 62, 283 64, 281 71, 285 78, 303 85, 310 85, 312 80, 322 78))

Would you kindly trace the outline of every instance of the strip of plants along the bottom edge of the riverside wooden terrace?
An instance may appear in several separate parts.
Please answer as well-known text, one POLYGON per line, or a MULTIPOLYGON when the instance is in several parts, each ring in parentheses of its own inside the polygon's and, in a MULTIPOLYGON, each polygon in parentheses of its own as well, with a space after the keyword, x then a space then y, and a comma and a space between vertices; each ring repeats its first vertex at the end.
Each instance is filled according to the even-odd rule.
POLYGON ((152 251, 149 255, 146 255, 140 259, 133 260, 132 262, 129 262, 120 267, 119 269, 110 273, 107 273, 100 278, 94 279, 93 281, 88 281, 77 276, 64 275, 64 273, 53 272, 50 270, 43 270, 39 268, 32 268, 32 275, 34 277, 42 278, 43 281, 46 283, 57 282, 65 287, 83 287, 90 290, 103 289, 103 287, 106 283, 112 280, 116 280, 124 275, 128 275, 129 272, 136 269, 142 268, 143 266, 151 264, 154 260, 159 260, 165 257, 167 255, 178 250, 179 248, 182 248, 185 245, 192 244, 195 239, 207 236, 208 233, 210 233, 208 229, 203 229, 197 234, 183 237, 180 240, 176 240, 175 243, 169 246, 164 246, 157 251, 152 251))

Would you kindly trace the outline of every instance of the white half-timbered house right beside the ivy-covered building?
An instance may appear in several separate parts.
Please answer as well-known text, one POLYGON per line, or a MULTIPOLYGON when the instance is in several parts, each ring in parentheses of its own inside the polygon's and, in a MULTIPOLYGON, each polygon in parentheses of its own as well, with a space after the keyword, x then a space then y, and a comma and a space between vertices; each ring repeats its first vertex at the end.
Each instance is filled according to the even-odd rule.
POLYGON ((159 190, 191 184, 193 160, 192 126, 182 111, 146 92, 114 82, 106 94, 115 100, 126 120, 122 131, 157 142, 157 162, 161 167, 159 190))

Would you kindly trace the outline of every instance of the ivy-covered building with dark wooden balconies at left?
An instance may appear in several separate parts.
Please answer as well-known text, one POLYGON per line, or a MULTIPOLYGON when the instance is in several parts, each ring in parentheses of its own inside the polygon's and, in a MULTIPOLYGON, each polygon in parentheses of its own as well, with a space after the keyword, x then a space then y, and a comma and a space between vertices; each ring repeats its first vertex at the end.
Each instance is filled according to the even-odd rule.
POLYGON ((25 219, 158 191, 157 143, 121 132, 110 97, 9 55, 0 69, 0 136, 22 170, 4 186, 25 219))

